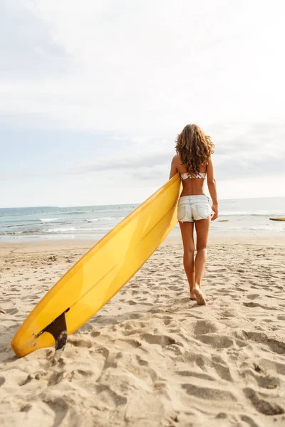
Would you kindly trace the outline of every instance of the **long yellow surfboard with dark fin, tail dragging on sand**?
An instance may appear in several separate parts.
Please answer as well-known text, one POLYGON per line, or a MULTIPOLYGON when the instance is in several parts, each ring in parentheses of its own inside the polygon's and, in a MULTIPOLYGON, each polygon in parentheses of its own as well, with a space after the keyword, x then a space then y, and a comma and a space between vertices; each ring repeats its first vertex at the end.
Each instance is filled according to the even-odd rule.
POLYGON ((64 347, 133 277, 177 223, 180 176, 152 194, 83 255, 26 318, 11 346, 22 357, 43 347, 64 347))

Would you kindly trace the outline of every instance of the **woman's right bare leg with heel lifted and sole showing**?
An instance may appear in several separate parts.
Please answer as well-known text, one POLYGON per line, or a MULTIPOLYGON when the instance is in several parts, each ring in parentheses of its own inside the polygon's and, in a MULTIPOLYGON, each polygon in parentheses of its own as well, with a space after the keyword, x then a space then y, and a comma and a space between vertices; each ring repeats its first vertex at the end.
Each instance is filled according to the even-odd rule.
POLYGON ((203 305, 206 304, 206 301, 204 300, 204 295, 201 292, 201 286, 207 260, 209 221, 210 217, 207 219, 201 219, 195 223, 197 233, 197 254, 195 258, 195 288, 193 288, 193 292, 197 297, 197 303, 203 305))

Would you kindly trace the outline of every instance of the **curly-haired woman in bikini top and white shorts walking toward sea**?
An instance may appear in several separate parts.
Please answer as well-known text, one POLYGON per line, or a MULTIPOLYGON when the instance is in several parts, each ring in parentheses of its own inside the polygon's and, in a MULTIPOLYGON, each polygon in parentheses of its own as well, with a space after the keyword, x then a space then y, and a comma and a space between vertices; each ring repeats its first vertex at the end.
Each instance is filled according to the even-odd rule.
POLYGON ((214 144, 199 126, 187 125, 178 135, 175 149, 177 154, 172 159, 170 178, 179 172, 182 179, 183 189, 178 202, 177 218, 184 248, 184 268, 190 285, 191 300, 205 305, 201 285, 207 258, 209 222, 218 217, 217 189, 211 157, 214 144), (212 210, 209 197, 204 194, 206 176, 212 210), (194 223, 197 233, 195 260, 194 223))

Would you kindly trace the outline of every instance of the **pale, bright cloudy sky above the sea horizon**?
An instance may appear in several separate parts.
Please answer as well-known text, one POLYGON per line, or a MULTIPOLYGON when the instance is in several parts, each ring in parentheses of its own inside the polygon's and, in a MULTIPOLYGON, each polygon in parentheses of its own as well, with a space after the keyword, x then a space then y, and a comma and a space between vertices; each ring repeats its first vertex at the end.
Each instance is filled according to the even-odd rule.
POLYGON ((0 207, 140 203, 188 123, 219 199, 285 196, 272 0, 0 1, 0 207))

